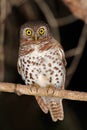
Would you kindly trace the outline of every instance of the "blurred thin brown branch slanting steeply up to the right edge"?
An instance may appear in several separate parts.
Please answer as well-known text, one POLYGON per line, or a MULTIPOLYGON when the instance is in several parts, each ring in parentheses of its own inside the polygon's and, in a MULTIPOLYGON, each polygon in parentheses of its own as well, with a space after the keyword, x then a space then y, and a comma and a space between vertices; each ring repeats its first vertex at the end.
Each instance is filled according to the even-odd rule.
POLYGON ((74 52, 74 54, 76 55, 78 52, 79 55, 76 55, 70 65, 70 67, 67 69, 67 76, 69 77, 66 83, 66 86, 68 86, 69 82, 71 81, 71 78, 73 76, 73 74, 75 73, 77 66, 79 64, 79 61, 81 59, 85 44, 86 44, 86 40, 87 40, 87 25, 85 24, 82 30, 82 34, 80 36, 79 42, 78 42, 78 46, 74 52))

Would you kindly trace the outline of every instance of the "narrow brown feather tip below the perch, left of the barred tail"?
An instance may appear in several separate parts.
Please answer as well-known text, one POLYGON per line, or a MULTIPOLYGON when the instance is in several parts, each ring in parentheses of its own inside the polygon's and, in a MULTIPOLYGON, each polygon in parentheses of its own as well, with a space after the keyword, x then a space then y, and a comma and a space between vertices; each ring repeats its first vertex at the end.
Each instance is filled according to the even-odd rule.
POLYGON ((47 108, 47 105, 44 103, 43 99, 40 97, 40 96, 35 96, 41 110, 44 112, 44 113, 48 113, 48 108, 47 108))

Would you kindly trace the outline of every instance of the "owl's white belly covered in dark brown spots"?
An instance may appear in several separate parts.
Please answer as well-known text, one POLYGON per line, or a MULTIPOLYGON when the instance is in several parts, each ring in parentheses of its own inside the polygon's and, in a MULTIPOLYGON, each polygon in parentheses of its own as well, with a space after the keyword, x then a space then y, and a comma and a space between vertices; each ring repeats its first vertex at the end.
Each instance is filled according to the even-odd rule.
POLYGON ((63 86, 65 68, 55 55, 26 55, 21 57, 22 78, 26 84, 37 83, 41 87, 54 85, 63 86))

